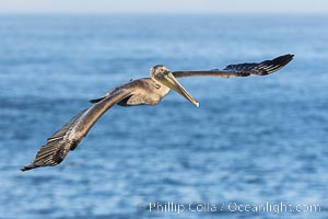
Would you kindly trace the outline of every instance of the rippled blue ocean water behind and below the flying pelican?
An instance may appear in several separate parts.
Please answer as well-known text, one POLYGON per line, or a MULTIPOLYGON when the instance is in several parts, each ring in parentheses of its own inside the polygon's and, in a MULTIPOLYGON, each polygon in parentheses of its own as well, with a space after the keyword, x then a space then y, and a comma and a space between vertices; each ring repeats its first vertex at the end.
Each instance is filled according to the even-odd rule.
POLYGON ((327 218, 327 16, 2 15, 0 218, 327 218), (289 53, 267 77, 181 79, 199 108, 174 92, 115 106, 60 165, 20 171, 151 66, 289 53))

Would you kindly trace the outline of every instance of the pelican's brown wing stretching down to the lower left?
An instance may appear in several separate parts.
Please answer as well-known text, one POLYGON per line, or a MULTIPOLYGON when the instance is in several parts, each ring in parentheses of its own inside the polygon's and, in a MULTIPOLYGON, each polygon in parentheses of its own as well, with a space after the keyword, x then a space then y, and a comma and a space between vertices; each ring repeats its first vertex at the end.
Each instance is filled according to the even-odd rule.
POLYGON ((27 171, 35 168, 59 164, 71 150, 78 147, 82 138, 86 136, 87 131, 107 110, 129 95, 131 95, 131 90, 121 88, 79 113, 48 138, 47 145, 38 150, 34 161, 21 170, 27 171))

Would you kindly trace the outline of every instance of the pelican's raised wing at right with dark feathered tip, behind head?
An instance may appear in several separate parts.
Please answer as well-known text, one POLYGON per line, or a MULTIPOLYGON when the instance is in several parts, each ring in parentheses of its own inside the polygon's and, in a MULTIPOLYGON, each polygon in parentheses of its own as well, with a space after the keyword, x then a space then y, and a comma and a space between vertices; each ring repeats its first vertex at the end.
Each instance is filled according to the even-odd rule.
POLYGON ((285 65, 288 65, 294 55, 288 54, 284 56, 279 56, 271 60, 266 60, 259 64, 236 64, 229 65, 223 70, 213 69, 213 70, 200 70, 200 71, 175 71, 173 74, 176 78, 183 77, 247 77, 247 76, 266 76, 278 71, 285 65))

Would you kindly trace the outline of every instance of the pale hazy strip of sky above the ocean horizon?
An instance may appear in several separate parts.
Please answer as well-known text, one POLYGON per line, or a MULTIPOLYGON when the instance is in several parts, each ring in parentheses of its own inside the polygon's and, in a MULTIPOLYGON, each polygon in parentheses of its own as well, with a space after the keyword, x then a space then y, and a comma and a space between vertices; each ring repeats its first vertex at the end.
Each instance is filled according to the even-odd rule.
POLYGON ((1 13, 214 13, 327 14, 325 0, 11 0, 0 1, 1 13))

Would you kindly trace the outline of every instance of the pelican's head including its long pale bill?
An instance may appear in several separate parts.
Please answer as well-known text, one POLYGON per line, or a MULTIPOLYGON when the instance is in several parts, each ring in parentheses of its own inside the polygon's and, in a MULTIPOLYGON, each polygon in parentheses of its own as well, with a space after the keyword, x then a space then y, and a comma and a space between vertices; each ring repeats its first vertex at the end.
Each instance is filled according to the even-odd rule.
POLYGON ((157 81, 159 83, 173 89, 181 96, 190 101, 197 107, 199 106, 198 101, 196 101, 186 89, 176 80, 173 73, 163 65, 154 66, 150 69, 150 73, 153 80, 157 81))

